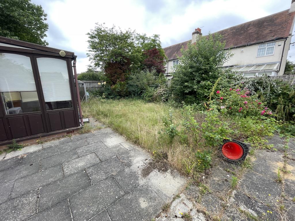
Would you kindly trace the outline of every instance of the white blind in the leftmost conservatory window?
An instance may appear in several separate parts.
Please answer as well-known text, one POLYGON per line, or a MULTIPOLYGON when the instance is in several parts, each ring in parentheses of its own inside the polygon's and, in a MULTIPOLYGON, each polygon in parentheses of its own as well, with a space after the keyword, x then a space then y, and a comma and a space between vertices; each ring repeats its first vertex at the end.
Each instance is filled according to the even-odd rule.
POLYGON ((36 91, 30 57, 0 53, 0 92, 36 91))

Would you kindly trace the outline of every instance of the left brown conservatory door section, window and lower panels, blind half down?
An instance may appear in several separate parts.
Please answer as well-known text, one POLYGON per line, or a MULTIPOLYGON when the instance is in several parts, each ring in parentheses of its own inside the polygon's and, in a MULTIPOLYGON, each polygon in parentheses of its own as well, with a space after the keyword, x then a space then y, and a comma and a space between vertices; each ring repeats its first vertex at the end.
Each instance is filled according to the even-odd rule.
POLYGON ((0 53, 0 141, 45 133, 31 57, 0 53))

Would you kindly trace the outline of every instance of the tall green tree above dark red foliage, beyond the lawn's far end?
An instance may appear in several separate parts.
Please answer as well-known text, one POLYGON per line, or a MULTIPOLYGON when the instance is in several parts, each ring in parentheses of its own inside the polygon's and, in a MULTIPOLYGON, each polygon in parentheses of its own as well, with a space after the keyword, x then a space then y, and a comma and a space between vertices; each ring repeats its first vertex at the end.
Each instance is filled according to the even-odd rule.
MULTIPOLYGON (((149 50, 155 48, 161 56, 165 55, 158 35, 147 37, 130 29, 122 31, 115 26, 108 28, 104 24, 97 23, 87 35, 89 60, 94 68, 104 69, 112 85, 125 81, 132 72, 144 70, 146 68, 144 61, 148 59, 149 50)), ((159 59, 159 56, 155 59, 159 59)), ((152 64, 149 65, 151 69, 152 64)))

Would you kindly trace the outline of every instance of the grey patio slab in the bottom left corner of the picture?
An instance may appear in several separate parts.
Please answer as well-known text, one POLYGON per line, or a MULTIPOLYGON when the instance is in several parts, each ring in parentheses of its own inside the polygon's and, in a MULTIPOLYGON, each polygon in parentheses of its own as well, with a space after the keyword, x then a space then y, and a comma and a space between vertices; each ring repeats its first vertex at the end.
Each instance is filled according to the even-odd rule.
POLYGON ((37 192, 30 192, 0 205, 0 220, 22 221, 37 212, 37 192))

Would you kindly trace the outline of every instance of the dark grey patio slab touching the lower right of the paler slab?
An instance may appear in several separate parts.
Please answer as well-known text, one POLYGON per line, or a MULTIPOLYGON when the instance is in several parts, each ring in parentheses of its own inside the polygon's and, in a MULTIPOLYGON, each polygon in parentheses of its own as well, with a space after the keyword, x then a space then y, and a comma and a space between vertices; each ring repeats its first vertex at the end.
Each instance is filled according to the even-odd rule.
POLYGON ((86 169, 86 172, 92 182, 92 184, 97 184, 109 176, 114 176, 119 171, 125 169, 125 165, 118 160, 117 157, 108 159, 100 164, 86 169))

